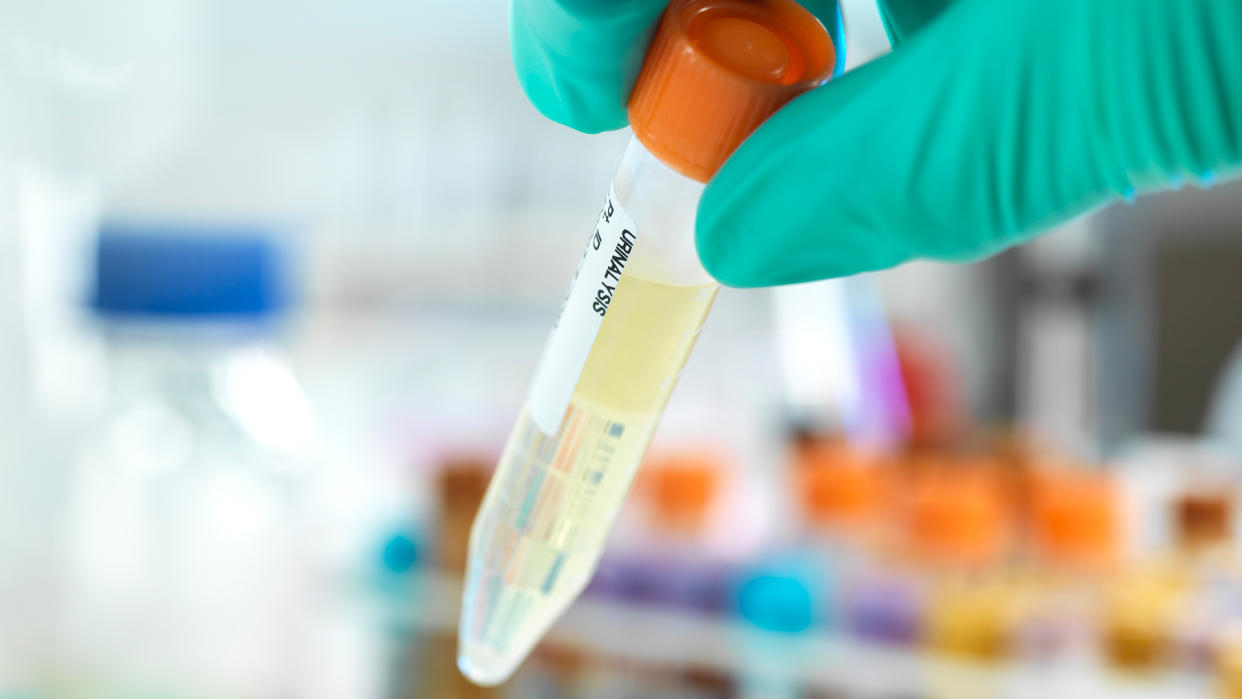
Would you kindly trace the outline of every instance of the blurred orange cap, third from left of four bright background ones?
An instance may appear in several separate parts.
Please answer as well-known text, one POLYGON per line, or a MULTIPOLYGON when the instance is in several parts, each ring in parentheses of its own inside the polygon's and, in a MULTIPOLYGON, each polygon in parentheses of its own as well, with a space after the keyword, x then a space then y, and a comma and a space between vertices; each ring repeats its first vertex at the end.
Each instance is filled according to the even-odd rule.
POLYGON ((933 565, 981 567, 1010 543, 1004 489, 995 469, 946 464, 913 476, 905 539, 933 565))

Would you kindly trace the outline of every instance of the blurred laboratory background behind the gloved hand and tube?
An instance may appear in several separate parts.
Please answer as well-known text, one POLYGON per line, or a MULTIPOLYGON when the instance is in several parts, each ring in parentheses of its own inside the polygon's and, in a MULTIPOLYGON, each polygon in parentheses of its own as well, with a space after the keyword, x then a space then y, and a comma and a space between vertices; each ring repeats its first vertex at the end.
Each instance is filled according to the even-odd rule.
POLYGON ((1242 697, 1237 184, 723 289, 482 689, 468 528, 627 133, 502 0, 0 17, 0 697, 1242 697))

